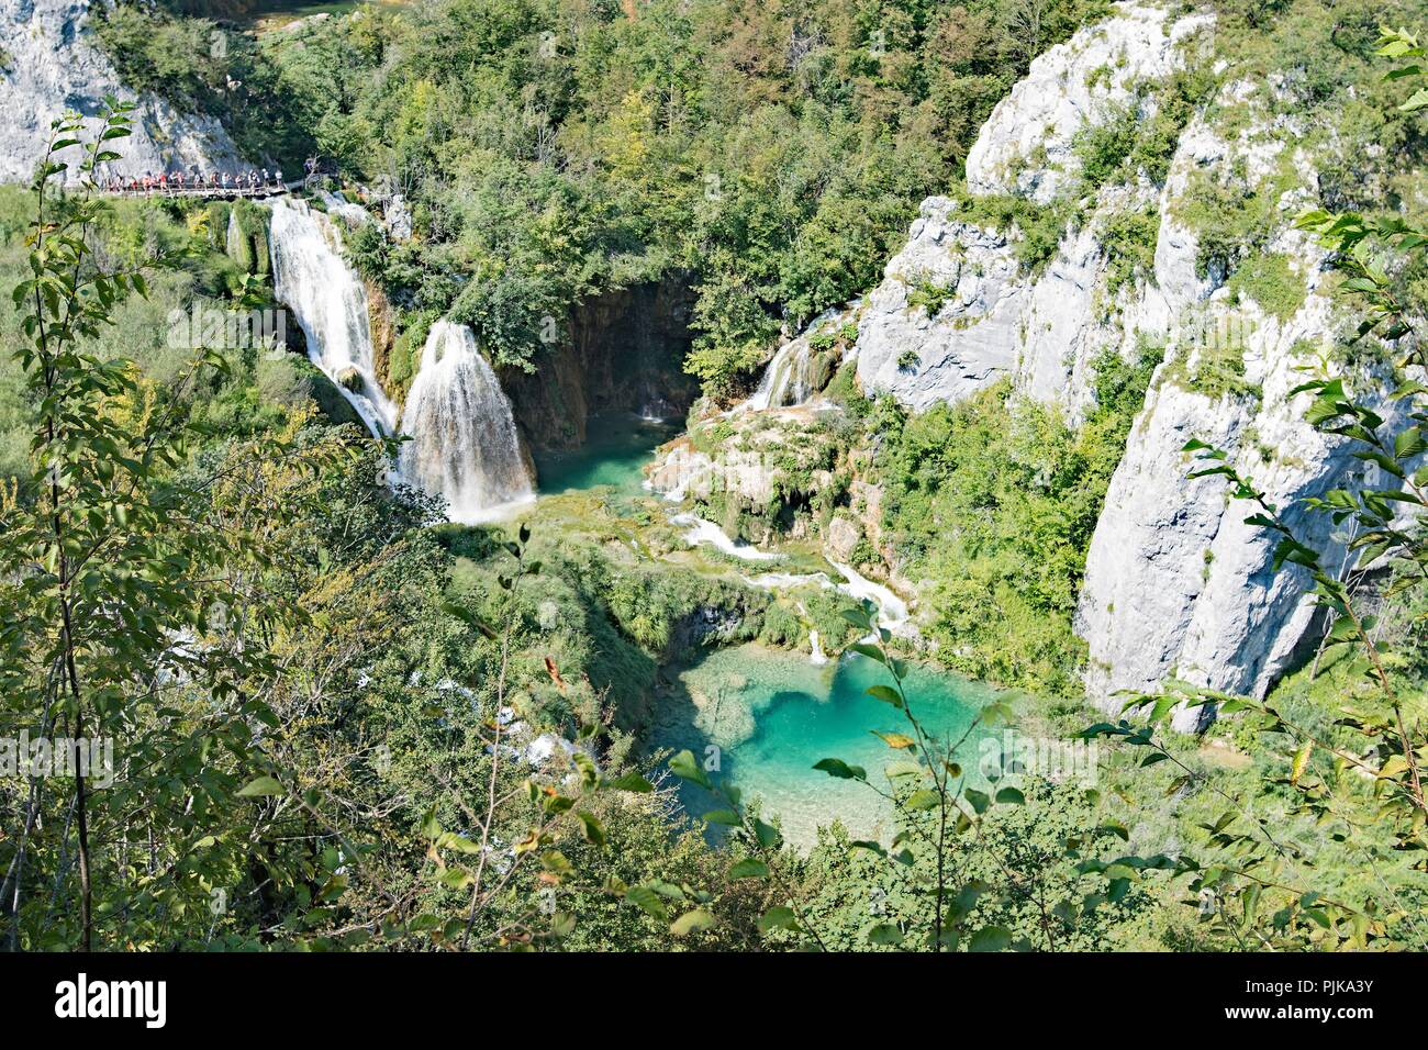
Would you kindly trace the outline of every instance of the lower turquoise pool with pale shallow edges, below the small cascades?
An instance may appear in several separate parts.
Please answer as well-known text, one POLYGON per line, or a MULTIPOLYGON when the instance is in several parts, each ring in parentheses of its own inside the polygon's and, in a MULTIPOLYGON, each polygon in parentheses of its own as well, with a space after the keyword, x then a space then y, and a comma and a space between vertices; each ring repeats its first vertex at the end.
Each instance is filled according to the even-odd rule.
MULTIPOLYGON (((863 766, 868 780, 887 789, 883 770, 905 756, 873 734, 910 733, 902 713, 867 696, 887 683, 887 670, 865 657, 815 666, 807 654, 761 646, 715 650, 678 676, 660 699, 661 721, 653 747, 691 750, 704 760, 718 749, 714 776, 733 780, 745 799, 763 800, 777 814, 790 843, 805 849, 820 826, 841 820, 858 839, 888 841, 891 806, 868 787, 814 770, 821 759, 863 766)), ((975 681, 914 666, 907 690, 922 726, 935 737, 960 737, 992 690, 975 681)), ((958 751, 962 766, 977 766, 981 736, 958 751)), ((684 807, 695 817, 723 809, 703 789, 681 784, 684 807)))

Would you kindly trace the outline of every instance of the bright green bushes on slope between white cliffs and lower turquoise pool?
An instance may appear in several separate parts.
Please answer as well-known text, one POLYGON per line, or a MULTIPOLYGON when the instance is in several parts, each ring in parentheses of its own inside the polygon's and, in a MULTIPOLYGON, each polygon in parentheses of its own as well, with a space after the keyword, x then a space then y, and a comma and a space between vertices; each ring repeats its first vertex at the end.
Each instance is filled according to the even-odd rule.
POLYGON ((1085 553, 1158 351, 1095 363, 1097 407, 1072 431, 1007 384, 887 434, 887 534, 930 581, 930 633, 957 670, 1037 693, 1080 693, 1071 631, 1085 553))

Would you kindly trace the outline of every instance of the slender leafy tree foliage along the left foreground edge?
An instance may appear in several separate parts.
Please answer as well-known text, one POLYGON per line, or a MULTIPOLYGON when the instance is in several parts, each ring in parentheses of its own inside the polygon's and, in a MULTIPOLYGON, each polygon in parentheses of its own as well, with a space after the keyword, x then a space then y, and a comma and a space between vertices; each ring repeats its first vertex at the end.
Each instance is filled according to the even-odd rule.
MULTIPOLYGON (((188 397, 226 361, 200 350, 159 386, 133 361, 84 353, 116 304, 147 293, 146 271, 173 261, 116 264, 94 253, 96 171, 117 159, 109 143, 129 134, 131 110, 106 100, 73 171, 77 196, 54 183, 69 170, 59 157, 81 146, 83 121, 54 121, 36 177, 29 271, 13 296, 24 310, 13 357, 33 440, 23 493, 0 496, 0 719, 7 739, 61 737, 56 747, 74 747, 74 763, 46 791, 46 769, 6 789, 7 811, 24 814, 4 847, 11 950, 191 943, 193 929, 169 927, 166 914, 207 910, 210 890, 240 877, 248 850, 274 841, 271 813, 257 816, 247 841, 211 833, 218 814, 251 804, 243 799, 271 794, 250 783, 268 761, 253 727, 278 721, 256 694, 276 667, 258 637, 301 614, 254 603, 243 580, 271 564, 284 516, 303 503, 256 516, 251 504, 221 506, 221 493, 253 484, 264 461, 321 474, 344 457, 340 444, 298 447, 291 431, 271 433, 231 446, 213 477, 184 476, 201 433, 188 397), (253 627, 243 644, 230 630, 238 621, 253 627), (81 764, 86 746, 74 741, 91 739, 123 750, 81 764), (136 880, 120 844, 144 836, 153 877, 136 880)), ((271 857, 276 880, 301 877, 291 854, 271 857)))

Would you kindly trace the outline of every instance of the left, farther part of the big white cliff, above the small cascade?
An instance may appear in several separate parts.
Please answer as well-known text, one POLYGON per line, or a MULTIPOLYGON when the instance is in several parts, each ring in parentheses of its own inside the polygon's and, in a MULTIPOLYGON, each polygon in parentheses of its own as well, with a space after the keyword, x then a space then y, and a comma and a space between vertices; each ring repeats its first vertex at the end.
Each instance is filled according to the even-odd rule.
POLYGON ((907 247, 867 297, 858 329, 864 389, 922 410, 1011 374, 1027 393, 1061 400, 1072 414, 1085 406, 1095 353, 1108 346, 1128 353, 1138 327, 1115 316, 1125 289, 1112 287, 1115 250, 1104 231, 1162 201, 1144 179, 1084 186, 1074 147, 1090 127, 1150 120, 1160 104, 1155 86, 1184 67, 1212 24, 1204 14, 1174 19, 1118 4, 1115 17, 1032 61, 972 144, 967 191, 1030 209, 1060 203, 1062 211, 1072 211, 1067 197, 1088 194, 1077 203, 1082 221, 1060 231, 1050 261, 1028 266, 1018 250, 1025 230, 991 226, 945 197, 924 201, 907 247))

